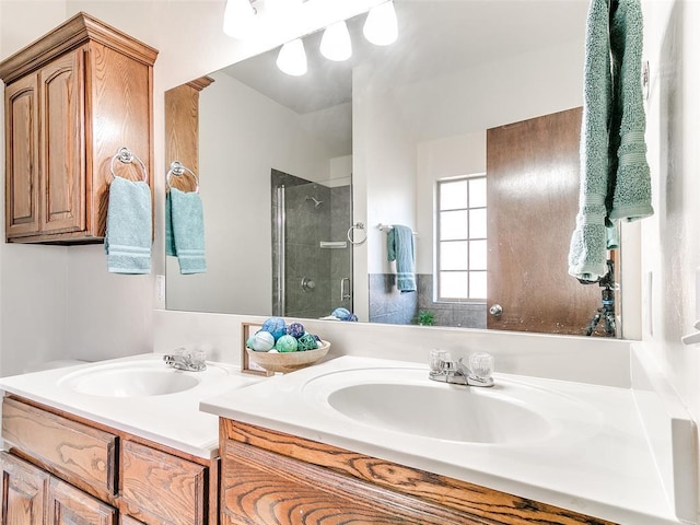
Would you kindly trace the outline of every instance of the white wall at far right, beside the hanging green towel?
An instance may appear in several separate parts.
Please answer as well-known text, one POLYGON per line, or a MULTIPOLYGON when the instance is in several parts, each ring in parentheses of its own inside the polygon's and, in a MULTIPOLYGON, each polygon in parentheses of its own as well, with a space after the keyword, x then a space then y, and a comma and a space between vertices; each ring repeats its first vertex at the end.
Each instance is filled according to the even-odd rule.
POLYGON ((693 419, 700 420, 700 347, 681 345, 700 318, 700 3, 642 2, 644 56, 650 61, 646 105, 655 215, 642 222, 642 270, 651 275, 644 341, 693 419))

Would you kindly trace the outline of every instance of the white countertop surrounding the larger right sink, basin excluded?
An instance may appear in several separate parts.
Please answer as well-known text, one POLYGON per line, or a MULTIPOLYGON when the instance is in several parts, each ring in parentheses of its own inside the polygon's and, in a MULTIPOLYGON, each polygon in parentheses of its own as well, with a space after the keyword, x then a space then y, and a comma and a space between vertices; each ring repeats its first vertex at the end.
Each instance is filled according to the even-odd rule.
MULTIPOLYGON (((617 523, 679 523, 666 499, 631 390, 494 374, 497 385, 501 382, 548 392, 574 400, 585 413, 593 415, 583 420, 571 417, 565 431, 541 441, 514 444, 408 435, 363 424, 308 395, 310 382, 324 374, 397 368, 428 374, 428 368, 417 363, 343 357, 223 393, 205 399, 200 407, 212 415, 617 523)), ((390 373, 386 370, 387 377, 390 373)))

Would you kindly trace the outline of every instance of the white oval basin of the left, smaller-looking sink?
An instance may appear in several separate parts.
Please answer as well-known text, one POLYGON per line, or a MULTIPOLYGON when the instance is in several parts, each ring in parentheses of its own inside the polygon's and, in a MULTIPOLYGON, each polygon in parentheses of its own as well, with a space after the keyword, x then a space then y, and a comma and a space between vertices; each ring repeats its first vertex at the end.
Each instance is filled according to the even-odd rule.
POLYGON ((115 363, 68 374, 59 381, 59 386, 92 396, 164 396, 195 388, 206 377, 222 375, 225 371, 217 366, 202 372, 184 372, 162 361, 115 363))

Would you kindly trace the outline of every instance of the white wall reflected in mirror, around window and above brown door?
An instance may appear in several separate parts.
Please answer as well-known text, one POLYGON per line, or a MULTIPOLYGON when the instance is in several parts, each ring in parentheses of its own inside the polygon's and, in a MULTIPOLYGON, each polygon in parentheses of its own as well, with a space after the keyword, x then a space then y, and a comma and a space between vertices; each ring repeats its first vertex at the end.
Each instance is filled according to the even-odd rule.
POLYGON ((413 229, 417 270, 432 272, 435 180, 486 172, 486 129, 580 106, 582 50, 572 40, 406 85, 382 63, 353 70, 354 212, 368 225, 354 252, 361 320, 368 273, 392 271, 376 225, 413 229))

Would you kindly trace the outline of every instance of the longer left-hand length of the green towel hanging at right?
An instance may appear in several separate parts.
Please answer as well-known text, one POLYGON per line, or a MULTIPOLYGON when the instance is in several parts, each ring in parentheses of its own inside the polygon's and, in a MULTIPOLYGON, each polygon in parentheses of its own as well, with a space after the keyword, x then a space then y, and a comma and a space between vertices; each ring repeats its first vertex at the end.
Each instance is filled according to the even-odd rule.
POLYGON ((608 18, 608 0, 592 0, 585 36, 579 213, 569 249, 569 273, 584 281, 596 281, 607 272, 608 119, 612 86, 608 18))

